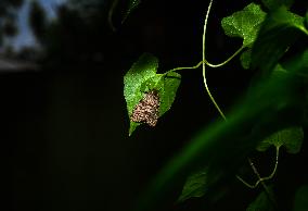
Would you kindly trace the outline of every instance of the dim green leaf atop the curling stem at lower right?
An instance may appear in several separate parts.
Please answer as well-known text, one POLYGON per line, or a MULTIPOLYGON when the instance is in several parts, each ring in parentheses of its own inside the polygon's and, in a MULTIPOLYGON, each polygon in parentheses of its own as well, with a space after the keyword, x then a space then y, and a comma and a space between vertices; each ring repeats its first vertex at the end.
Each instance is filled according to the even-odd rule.
POLYGON ((284 146, 288 153, 297 153, 300 150, 304 140, 304 132, 301 127, 290 127, 277 132, 266 139, 264 139, 258 146, 258 151, 266 151, 270 146, 280 148, 284 146))

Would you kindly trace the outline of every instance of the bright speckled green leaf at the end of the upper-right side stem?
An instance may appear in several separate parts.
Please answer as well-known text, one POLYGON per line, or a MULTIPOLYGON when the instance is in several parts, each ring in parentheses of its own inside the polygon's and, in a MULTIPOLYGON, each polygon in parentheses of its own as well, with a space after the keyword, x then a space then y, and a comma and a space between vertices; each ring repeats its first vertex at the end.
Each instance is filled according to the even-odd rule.
POLYGON ((257 38, 257 33, 265 17, 266 13, 260 7, 251 3, 242 11, 222 18, 221 26, 226 35, 243 38, 243 46, 251 47, 257 38))

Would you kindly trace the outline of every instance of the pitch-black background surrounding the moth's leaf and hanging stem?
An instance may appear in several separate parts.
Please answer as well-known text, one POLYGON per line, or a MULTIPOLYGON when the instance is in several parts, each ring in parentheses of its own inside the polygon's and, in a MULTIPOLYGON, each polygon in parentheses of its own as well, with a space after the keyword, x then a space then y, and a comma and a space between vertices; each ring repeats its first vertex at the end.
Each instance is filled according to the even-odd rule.
MULTIPOLYGON (((240 48, 240 39, 223 35, 220 20, 246 4, 214 3, 206 47, 213 63, 240 48)), ((306 12, 303 4, 294 7, 299 14, 306 12)), ((4 162, 11 169, 9 210, 130 210, 166 161, 219 119, 202 70, 185 70, 171 110, 156 127, 142 126, 128 137, 123 76, 143 52, 159 59, 159 72, 198 63, 208 1, 144 0, 121 26, 117 9, 116 32, 106 22, 106 5, 90 22, 59 9, 59 25, 39 35, 47 49, 38 61, 41 67, 0 75, 2 142, 9 152, 4 162)), ((209 87, 227 115, 253 75, 236 59, 208 69, 209 87)), ((305 166, 297 165, 305 163, 305 151, 306 144, 297 156, 281 156, 277 189, 282 200, 288 199, 286 210, 295 189, 307 183, 305 166)), ((271 156, 262 161, 266 167, 271 156)), ((195 199, 172 206, 180 188, 162 204, 165 210, 245 210, 258 194, 234 179, 231 195, 215 204, 195 199)))

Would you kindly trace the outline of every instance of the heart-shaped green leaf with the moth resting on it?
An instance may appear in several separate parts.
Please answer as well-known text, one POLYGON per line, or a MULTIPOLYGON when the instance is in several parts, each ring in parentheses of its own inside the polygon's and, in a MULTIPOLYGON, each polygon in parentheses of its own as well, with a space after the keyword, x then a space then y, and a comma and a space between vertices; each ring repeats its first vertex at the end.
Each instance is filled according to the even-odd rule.
POLYGON ((177 89, 181 82, 181 75, 172 72, 156 74, 158 60, 150 53, 144 53, 124 76, 124 96, 128 115, 130 116, 129 135, 141 123, 149 124, 149 121, 152 123, 150 125, 155 126, 156 120, 149 119, 151 116, 161 117, 174 103, 177 89), (154 103, 155 108, 152 107, 155 97, 149 96, 151 91, 152 94, 157 92, 158 102, 154 103), (158 107, 158 113, 152 115, 151 112, 156 112, 156 107, 158 107), (131 117, 132 115, 136 115, 136 117, 131 117), (132 120, 140 121, 134 122, 132 120))

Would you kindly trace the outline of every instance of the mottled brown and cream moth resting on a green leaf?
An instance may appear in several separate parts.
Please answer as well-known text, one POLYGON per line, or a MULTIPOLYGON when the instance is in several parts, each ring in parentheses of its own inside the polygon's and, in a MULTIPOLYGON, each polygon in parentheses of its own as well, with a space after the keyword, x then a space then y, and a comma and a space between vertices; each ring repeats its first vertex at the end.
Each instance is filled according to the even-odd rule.
POLYGON ((130 121, 146 123, 154 127, 159 116, 159 96, 157 90, 151 90, 144 95, 142 100, 133 108, 130 121))

